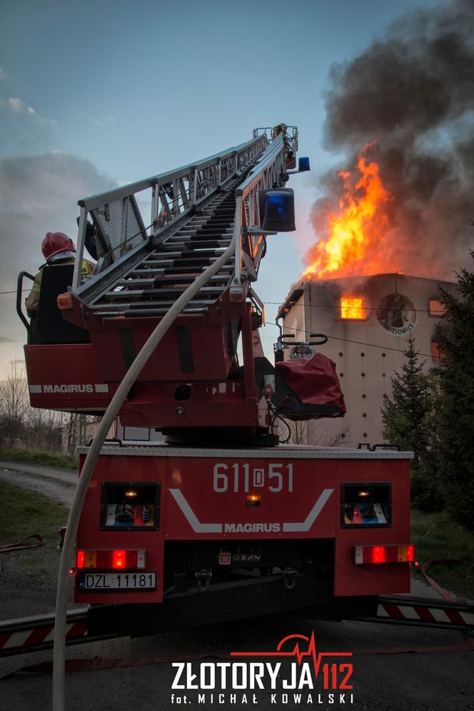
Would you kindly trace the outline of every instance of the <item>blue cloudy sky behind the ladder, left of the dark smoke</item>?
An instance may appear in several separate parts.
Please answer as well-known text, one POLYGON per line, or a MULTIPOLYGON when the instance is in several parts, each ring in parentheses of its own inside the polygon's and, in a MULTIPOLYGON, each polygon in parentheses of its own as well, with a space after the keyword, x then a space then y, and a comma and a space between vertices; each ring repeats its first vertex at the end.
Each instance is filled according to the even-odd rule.
MULTIPOLYGON (((302 256, 323 148, 333 66, 388 23, 434 0, 2 0, 0 277, 36 273, 46 231, 76 238, 77 201, 249 140, 255 126, 298 126, 296 233, 271 238, 256 291, 274 321, 302 256), (274 302, 274 303, 272 303, 274 302)), ((446 4, 446 3, 445 3, 446 4)), ((23 358, 15 294, 0 294, 0 375, 23 358)), ((262 330, 267 354, 278 332, 262 330)))

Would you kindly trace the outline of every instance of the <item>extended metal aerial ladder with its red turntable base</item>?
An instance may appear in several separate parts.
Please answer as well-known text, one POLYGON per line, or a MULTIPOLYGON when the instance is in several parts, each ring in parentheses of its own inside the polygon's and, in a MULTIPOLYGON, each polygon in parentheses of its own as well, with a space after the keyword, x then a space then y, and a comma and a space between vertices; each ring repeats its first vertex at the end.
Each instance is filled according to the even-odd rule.
MULTIPOLYGON (((252 285, 268 234, 276 233, 276 225, 280 231, 294 229, 292 191, 284 186, 297 148, 296 127, 271 139, 268 129, 256 129, 251 141, 218 156, 79 201, 74 275, 66 266, 62 288, 50 290, 61 311, 51 300, 49 316, 56 312, 57 331, 39 323, 36 342, 25 348, 31 404, 104 411, 156 323, 233 244, 228 261, 188 302, 148 360, 120 419, 180 439, 185 431, 186 438, 215 436, 219 428, 223 436, 276 443, 264 385, 271 383, 276 410, 288 409, 298 397, 263 356, 258 328, 264 308, 252 285), (274 191, 268 208, 273 218, 261 214, 268 191, 274 191), (83 281, 86 249, 96 268, 83 281)), ((304 160, 302 166, 308 169, 304 160)), ((42 288, 59 275, 57 267, 45 268, 42 288)), ((40 296, 40 312, 41 307, 40 296)), ((299 403, 298 411, 341 415, 334 405, 299 403)))

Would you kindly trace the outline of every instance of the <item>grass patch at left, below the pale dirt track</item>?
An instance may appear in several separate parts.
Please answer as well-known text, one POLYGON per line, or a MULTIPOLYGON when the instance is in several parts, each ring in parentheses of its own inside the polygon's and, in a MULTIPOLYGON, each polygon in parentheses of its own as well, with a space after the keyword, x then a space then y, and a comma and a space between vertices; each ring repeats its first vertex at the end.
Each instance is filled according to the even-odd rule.
POLYGON ((66 525, 68 510, 56 501, 14 484, 0 482, 0 500, 6 515, 0 517, 0 543, 16 543, 27 535, 41 535, 45 545, 59 542, 57 529, 66 525))

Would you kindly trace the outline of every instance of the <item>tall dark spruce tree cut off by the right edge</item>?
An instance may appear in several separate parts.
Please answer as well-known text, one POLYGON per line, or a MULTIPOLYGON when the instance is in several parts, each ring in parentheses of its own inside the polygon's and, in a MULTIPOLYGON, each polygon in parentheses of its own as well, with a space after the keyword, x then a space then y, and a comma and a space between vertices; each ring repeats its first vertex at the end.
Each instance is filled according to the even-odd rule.
MULTIPOLYGON (((474 258, 474 251, 470 252, 474 258)), ((447 328, 438 326, 440 368, 435 455, 446 507, 474 529, 474 273, 461 269, 458 295, 440 288, 447 328)))

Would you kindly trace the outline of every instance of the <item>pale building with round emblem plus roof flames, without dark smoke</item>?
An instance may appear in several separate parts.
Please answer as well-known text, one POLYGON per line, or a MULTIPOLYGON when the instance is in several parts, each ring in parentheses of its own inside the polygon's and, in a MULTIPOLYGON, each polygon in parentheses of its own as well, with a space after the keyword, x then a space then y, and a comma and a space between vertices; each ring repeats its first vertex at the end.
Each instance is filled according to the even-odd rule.
POLYGON ((383 395, 391 393, 390 377, 403 363, 406 339, 415 339, 425 370, 435 365, 435 326, 443 318, 438 284, 450 293, 457 288, 433 278, 447 271, 443 251, 438 249, 436 260, 426 242, 418 253, 416 247, 410 251, 415 238, 410 241, 407 226, 393 213, 395 196, 376 158, 375 144, 365 146, 350 170, 338 171, 333 193, 315 203, 319 239, 278 312, 283 333, 294 333, 295 340, 311 340, 310 333, 328 336, 322 352, 336 363, 346 399, 343 424, 308 423, 308 443, 383 441, 380 408, 383 395), (408 276, 410 264, 421 276, 408 276))

